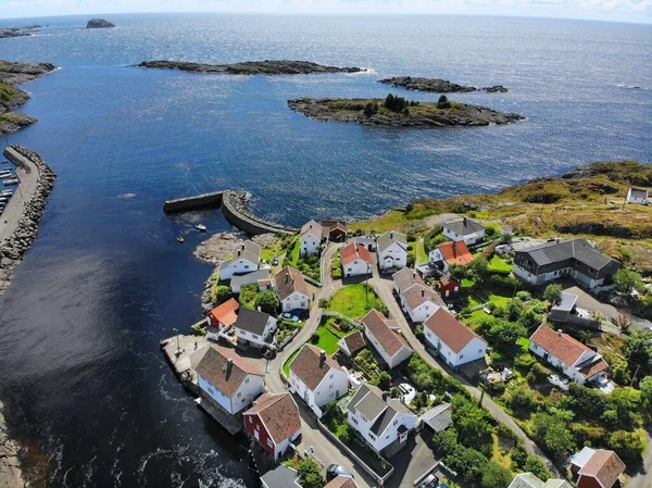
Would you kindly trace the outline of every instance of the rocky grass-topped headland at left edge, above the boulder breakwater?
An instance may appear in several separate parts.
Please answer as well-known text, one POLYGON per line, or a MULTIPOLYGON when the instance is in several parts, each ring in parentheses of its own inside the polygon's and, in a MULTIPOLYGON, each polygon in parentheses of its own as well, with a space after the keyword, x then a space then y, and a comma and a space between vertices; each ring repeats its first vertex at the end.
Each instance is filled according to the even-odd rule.
POLYGON ((29 101, 29 95, 16 85, 40 78, 57 70, 50 63, 20 63, 0 60, 0 136, 7 136, 34 124, 32 115, 11 112, 29 101))

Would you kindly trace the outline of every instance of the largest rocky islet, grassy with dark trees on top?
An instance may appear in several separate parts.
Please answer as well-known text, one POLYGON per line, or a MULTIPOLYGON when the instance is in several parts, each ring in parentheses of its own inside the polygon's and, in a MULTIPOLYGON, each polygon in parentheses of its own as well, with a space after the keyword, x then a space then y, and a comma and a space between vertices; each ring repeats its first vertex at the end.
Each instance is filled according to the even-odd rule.
POLYGON ((288 100, 294 112, 318 121, 353 122, 389 127, 451 127, 509 124, 525 117, 487 107, 469 105, 441 96, 437 102, 409 101, 388 95, 383 99, 300 98, 288 100))

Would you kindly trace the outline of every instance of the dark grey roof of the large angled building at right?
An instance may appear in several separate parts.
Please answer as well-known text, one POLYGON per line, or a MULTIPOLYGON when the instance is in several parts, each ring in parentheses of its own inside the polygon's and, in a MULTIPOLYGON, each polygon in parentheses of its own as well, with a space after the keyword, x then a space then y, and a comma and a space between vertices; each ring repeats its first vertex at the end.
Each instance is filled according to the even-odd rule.
POLYGON ((568 259, 576 259, 587 266, 600 270, 615 261, 595 250, 588 240, 581 238, 557 239, 525 248, 519 252, 529 254, 539 266, 559 263, 568 259))

